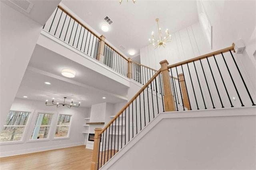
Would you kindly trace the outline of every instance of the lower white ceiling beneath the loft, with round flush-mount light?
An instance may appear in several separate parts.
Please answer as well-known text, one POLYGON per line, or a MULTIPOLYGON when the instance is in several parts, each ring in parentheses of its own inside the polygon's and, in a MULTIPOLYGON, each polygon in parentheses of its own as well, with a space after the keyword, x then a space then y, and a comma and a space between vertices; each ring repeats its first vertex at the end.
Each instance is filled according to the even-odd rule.
POLYGON ((29 100, 42 102, 54 98, 60 103, 67 97, 67 101, 73 99, 75 103, 81 102, 82 107, 90 107, 102 102, 127 102, 127 90, 119 82, 36 45, 16 98, 28 96, 29 100), (74 68, 76 77, 62 76, 62 68, 74 68))

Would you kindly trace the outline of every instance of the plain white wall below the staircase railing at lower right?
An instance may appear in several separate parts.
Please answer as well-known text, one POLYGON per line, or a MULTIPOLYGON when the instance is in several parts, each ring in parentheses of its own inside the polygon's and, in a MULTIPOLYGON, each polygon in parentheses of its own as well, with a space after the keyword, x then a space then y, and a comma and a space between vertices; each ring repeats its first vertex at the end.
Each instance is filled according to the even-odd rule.
POLYGON ((161 113, 102 169, 255 169, 255 113, 255 107, 161 113))

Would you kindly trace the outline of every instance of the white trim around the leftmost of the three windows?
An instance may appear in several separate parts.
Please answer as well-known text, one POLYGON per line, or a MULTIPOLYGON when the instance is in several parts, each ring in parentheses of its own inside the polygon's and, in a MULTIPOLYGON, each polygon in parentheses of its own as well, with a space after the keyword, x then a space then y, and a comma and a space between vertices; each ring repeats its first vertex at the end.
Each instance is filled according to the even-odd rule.
MULTIPOLYGON (((24 143, 25 142, 25 139, 26 139, 26 135, 27 133, 29 132, 29 127, 30 127, 30 123, 31 123, 31 120, 32 120, 32 117, 34 115, 34 112, 35 110, 34 109, 10 109, 10 111, 24 111, 24 112, 30 112, 29 116, 28 116, 28 121, 26 123, 26 125, 14 125, 14 126, 24 126, 24 131, 23 131, 23 134, 22 134, 22 137, 21 137, 21 140, 20 141, 6 141, 6 142, 0 142, 0 145, 10 145, 10 144, 17 144, 17 143, 24 143)), ((9 114, 9 113, 8 113, 9 114)), ((7 118, 7 117, 6 117, 7 118)), ((4 122, 5 123, 5 122, 4 122)), ((11 125, 7 125, 7 126, 11 126, 11 125)), ((4 126, 3 126, 4 127, 4 126)), ((1 127, 1 128, 3 128, 1 127)), ((2 130, 2 129, 1 129, 2 130)), ((2 131, 1 131, 2 132, 2 131)), ((0 132, 0 133, 1 133, 0 132)))

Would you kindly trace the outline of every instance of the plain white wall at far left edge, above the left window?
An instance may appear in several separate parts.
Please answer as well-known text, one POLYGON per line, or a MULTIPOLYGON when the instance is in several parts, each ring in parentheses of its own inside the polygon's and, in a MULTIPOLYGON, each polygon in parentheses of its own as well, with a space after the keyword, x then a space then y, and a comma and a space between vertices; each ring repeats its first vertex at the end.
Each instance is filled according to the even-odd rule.
POLYGON ((0 127, 8 115, 42 25, 1 4, 0 127))

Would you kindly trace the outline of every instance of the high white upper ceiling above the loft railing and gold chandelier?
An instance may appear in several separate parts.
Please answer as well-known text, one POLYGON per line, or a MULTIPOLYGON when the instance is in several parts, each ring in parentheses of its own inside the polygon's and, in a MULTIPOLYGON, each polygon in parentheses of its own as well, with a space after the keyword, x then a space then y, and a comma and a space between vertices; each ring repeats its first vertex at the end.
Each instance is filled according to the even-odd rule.
POLYGON ((174 33, 184 27, 198 22, 195 0, 62 0, 74 14, 88 23, 98 33, 117 47, 127 57, 128 51, 134 49, 135 55, 140 48, 148 45, 151 32, 157 32, 156 18, 162 30, 174 33), (100 29, 104 18, 108 16, 113 23, 108 32, 100 29), (123 45, 126 49, 119 48, 123 45))

